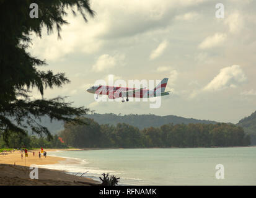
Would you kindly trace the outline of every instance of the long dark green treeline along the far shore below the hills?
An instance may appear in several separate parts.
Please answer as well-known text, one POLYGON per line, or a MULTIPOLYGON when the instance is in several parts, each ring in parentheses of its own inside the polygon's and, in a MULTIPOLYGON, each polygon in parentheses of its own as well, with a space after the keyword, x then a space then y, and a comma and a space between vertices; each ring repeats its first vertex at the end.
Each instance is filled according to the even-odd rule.
POLYGON ((164 124, 161 127, 138 127, 125 123, 116 126, 80 118, 86 125, 65 123, 60 133, 66 145, 89 147, 230 147, 250 144, 242 127, 234 124, 164 124))

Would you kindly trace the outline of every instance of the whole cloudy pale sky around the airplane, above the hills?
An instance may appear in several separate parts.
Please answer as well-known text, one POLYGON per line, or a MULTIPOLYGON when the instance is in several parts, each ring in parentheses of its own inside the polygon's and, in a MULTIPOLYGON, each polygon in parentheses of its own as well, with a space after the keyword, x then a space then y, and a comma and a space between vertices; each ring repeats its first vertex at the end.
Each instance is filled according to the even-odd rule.
MULTIPOLYGON (((69 96, 95 113, 176 115, 237 123, 256 110, 256 1, 94 0, 95 17, 68 11, 61 40, 56 31, 32 35, 42 70, 71 80, 44 98, 69 96), (221 2, 223 13, 216 8, 221 2), (153 101, 97 102, 86 88, 99 79, 169 78, 160 108, 153 101)), ((107 81, 108 82, 108 81, 107 81)), ((33 90, 32 98, 41 98, 33 90)))

